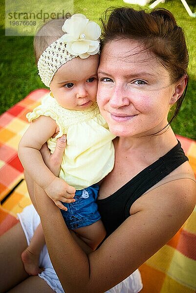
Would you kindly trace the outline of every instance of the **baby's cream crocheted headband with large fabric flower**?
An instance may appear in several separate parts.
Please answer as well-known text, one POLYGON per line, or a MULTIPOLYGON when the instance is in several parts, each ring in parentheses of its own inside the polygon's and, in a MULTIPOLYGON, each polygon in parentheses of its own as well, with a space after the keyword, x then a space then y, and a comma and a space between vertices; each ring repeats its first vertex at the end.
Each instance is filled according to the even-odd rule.
POLYGON ((99 53, 101 28, 85 15, 72 15, 65 21, 62 30, 65 35, 51 43, 38 60, 38 74, 48 87, 57 70, 67 61, 78 56, 86 59, 99 53))

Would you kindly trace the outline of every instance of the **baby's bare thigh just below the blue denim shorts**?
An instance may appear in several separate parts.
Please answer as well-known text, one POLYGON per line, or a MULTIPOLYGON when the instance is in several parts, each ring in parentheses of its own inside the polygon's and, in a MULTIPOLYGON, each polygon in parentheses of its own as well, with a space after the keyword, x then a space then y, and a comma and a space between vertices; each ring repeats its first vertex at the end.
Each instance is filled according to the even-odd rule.
POLYGON ((106 230, 101 220, 89 226, 73 229, 73 231, 92 250, 95 250, 106 236, 106 230))

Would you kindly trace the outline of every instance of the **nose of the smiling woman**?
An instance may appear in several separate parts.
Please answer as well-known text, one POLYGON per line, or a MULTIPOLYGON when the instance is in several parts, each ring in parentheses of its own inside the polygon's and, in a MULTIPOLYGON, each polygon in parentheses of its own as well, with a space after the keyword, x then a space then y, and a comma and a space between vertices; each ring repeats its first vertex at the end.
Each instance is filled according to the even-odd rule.
POLYGON ((115 86, 113 88, 109 99, 109 105, 112 108, 120 108, 130 105, 129 97, 126 95, 126 91, 122 87, 115 86))

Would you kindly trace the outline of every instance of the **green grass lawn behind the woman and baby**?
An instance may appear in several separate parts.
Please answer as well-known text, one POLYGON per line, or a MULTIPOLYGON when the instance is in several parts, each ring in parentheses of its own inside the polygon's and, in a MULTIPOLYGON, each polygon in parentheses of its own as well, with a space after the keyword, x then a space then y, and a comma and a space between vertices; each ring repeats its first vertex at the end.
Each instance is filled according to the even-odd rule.
MULTIPOLYGON (((196 1, 187 2, 195 12, 196 1)), ((58 6, 59 10, 63 9, 64 4, 61 5, 58 6)), ((122 0, 74 0, 73 9, 99 21, 109 6, 137 7, 122 0)), ((196 18, 189 17, 180 0, 166 0, 157 7, 170 10, 185 31, 190 53, 190 85, 182 109, 172 126, 175 133, 196 139, 196 18)), ((30 91, 44 87, 37 75, 32 42, 32 36, 5 36, 4 3, 0 0, 0 113, 21 101, 30 91)))

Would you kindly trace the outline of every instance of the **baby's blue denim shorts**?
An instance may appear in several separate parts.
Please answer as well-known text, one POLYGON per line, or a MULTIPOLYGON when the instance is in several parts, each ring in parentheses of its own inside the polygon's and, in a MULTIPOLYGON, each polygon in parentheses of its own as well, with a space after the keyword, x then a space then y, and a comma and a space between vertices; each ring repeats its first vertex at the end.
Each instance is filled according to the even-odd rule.
POLYGON ((96 200, 99 185, 94 184, 82 190, 76 190, 74 203, 62 203, 67 211, 61 209, 67 228, 77 229, 89 226, 101 219, 96 200))

